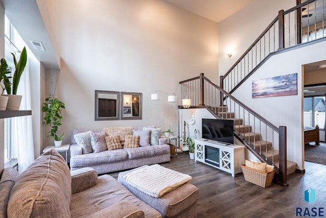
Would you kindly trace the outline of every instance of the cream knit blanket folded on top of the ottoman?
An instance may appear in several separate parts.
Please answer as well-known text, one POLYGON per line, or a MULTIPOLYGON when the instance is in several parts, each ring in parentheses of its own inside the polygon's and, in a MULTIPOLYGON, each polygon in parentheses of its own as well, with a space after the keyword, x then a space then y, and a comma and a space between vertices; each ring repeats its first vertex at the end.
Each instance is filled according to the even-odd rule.
POLYGON ((159 198, 188 182, 192 177, 164 166, 153 164, 130 172, 124 175, 123 179, 129 185, 147 195, 159 198))

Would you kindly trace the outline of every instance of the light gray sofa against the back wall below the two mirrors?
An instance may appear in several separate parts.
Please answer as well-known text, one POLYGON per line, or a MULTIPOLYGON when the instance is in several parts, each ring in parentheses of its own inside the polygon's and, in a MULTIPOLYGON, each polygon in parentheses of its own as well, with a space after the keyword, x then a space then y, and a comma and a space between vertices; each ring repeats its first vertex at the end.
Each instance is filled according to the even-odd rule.
MULTIPOLYGON (((124 135, 135 132, 135 128, 130 132, 130 127, 119 127, 118 131, 104 128, 104 130, 91 130, 93 133, 106 132, 106 135, 120 134, 124 139, 124 135)), ((139 129, 138 129, 139 130, 139 129)), ((84 154, 83 149, 76 143, 75 134, 87 132, 89 130, 73 130, 70 145, 70 170, 74 171, 83 167, 92 167, 97 174, 105 174, 116 171, 123 171, 143 165, 151 165, 154 163, 163 163, 170 161, 170 146, 166 144, 165 138, 159 138, 157 145, 123 148, 116 150, 106 150, 102 152, 91 152, 84 154)))

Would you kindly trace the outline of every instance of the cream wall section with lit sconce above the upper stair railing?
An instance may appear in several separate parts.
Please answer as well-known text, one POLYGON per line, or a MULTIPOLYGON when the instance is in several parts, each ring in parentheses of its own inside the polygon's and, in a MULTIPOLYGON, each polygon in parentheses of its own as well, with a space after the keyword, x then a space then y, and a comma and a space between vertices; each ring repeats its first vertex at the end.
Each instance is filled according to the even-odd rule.
MULTIPOLYGON (((295 0, 256 0, 246 8, 219 22, 219 74, 223 76, 280 10, 296 5, 295 0), (232 57, 228 58, 227 54, 232 57)), ((286 21, 285 21, 286 22, 286 21)))

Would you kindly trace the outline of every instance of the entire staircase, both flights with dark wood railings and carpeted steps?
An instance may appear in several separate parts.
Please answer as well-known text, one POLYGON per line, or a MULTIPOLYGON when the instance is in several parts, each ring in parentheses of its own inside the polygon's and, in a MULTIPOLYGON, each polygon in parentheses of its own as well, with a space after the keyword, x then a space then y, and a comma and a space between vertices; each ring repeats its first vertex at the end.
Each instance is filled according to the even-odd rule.
MULTIPOLYGON (((247 51, 224 76, 220 76, 220 86, 204 74, 180 82, 182 99, 191 99, 192 107, 206 108, 218 119, 234 120, 234 136, 260 161, 275 165, 275 180, 283 186, 287 186, 287 175, 293 173, 297 166, 287 160, 286 127, 274 126, 231 94, 271 56, 318 40, 316 27, 322 25, 322 29, 325 28, 324 6, 321 6, 322 10, 317 10, 315 6, 318 3, 318 0, 307 0, 287 11, 279 11, 247 51), (308 20, 307 24, 307 18, 302 16, 307 8, 314 11, 313 23, 308 20), (322 22, 319 17, 322 17, 322 22), (290 18, 295 21, 290 22, 290 18), (287 26, 285 20, 288 20, 287 26), (304 29, 308 30, 306 35, 302 32, 304 29), (310 37, 313 33, 315 38, 310 37)), ((318 37, 326 36, 322 34, 318 37)))

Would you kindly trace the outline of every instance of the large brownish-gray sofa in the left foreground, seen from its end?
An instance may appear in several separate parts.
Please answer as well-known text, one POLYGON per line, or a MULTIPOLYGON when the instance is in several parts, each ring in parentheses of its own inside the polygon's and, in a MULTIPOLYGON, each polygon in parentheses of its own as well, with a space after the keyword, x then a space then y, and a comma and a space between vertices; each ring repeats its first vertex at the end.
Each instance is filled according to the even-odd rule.
POLYGON ((4 169, 0 192, 0 217, 161 217, 109 175, 89 167, 70 172, 54 150, 20 175, 4 169))

